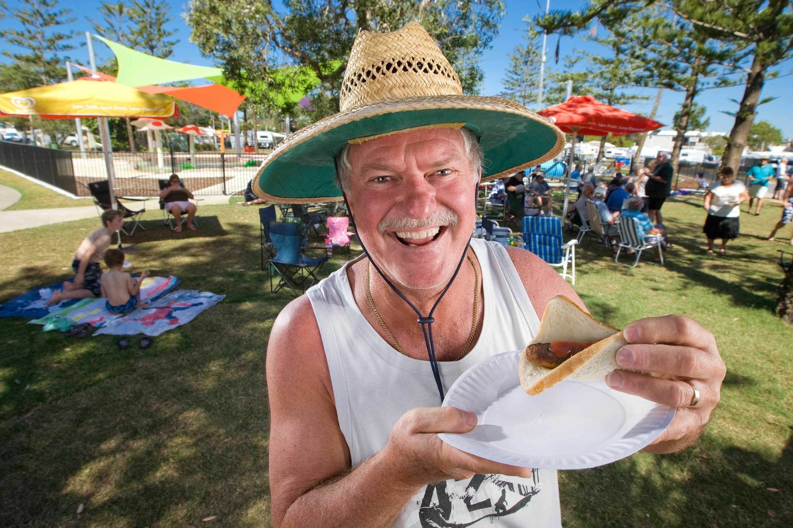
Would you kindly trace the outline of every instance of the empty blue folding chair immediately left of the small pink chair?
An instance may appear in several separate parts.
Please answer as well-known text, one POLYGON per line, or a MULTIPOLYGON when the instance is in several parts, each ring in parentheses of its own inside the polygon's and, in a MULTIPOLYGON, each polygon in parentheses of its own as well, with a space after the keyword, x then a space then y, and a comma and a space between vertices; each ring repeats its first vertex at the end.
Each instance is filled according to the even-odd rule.
MULTIPOLYGON (((275 256, 270 260, 270 291, 275 293, 282 287, 288 286, 293 294, 301 293, 316 281, 315 272, 318 271, 328 256, 311 258, 303 253, 305 238, 301 234, 301 226, 295 222, 270 222, 270 240, 273 241, 275 256), (279 281, 273 288, 273 272, 278 273, 279 281)), ((308 248, 311 249, 311 248, 308 248)), ((324 248, 313 248, 322 249, 324 248)))

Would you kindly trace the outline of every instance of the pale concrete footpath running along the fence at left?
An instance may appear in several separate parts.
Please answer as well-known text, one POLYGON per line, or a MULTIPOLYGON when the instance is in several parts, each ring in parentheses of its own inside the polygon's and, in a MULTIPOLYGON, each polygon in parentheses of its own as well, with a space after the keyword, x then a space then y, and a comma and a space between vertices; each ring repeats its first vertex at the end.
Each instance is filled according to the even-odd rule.
MULTIPOLYGON (((2 187, 2 186, 0 186, 2 187)), ((13 189, 10 189, 13 191, 13 189)), ((2 189, 0 189, 2 192, 2 189)), ((17 193, 18 194, 18 193, 17 193)), ((2 196, 2 195, 0 195, 2 196)), ((17 198, 18 199, 18 198, 17 198)), ((229 196, 209 195, 198 196, 197 216, 201 217, 201 207, 205 205, 225 205, 228 203, 229 196)), ((17 200, 14 200, 16 202, 17 200)), ((75 200, 77 201, 77 200, 75 200)), ((81 200, 82 201, 82 200, 81 200)), ((2 202, 0 202, 2 203, 2 202)), ((12 202, 13 203, 13 202, 12 202)), ((6 207, 8 207, 6 205, 6 207)), ((142 220, 159 220, 162 213, 159 211, 159 199, 147 199, 145 202, 127 203, 126 206, 133 211, 146 207, 146 214, 142 220)), ((53 209, 24 209, 21 211, 0 211, 0 233, 29 229, 31 227, 49 226, 60 222, 71 222, 82 220, 83 218, 98 218, 97 208, 93 205, 86 207, 56 207, 53 209)))

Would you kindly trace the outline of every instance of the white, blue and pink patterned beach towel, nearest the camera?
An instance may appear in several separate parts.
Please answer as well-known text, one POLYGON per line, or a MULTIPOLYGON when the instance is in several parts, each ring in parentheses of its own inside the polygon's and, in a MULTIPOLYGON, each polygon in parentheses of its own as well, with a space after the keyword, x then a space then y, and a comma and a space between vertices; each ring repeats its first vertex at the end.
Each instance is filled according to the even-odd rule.
POLYGON ((134 336, 142 333, 147 336, 159 336, 161 333, 175 329, 193 321, 201 312, 215 306, 225 295, 216 295, 209 291, 177 290, 152 302, 148 308, 139 308, 132 313, 117 317, 107 322, 94 332, 113 336, 134 336))

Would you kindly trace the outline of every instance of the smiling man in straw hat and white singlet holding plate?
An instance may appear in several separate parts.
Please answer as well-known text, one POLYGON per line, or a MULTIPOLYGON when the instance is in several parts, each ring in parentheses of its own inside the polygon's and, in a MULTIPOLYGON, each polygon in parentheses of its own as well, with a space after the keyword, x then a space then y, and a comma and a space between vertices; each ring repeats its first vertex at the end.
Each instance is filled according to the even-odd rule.
MULTIPOLYGON (((564 135, 515 102, 462 95, 415 22, 358 34, 340 106, 254 180, 269 201, 346 200, 364 248, 270 333, 274 526, 560 526, 555 471, 478 458, 437 433, 476 425, 439 407, 463 371, 524 348, 554 295, 580 304, 531 253, 471 239, 478 182, 554 158, 564 135)), ((624 332, 620 364, 668 375, 622 370, 609 385, 678 408, 648 450, 690 445, 724 378, 713 336, 680 316, 624 332)))

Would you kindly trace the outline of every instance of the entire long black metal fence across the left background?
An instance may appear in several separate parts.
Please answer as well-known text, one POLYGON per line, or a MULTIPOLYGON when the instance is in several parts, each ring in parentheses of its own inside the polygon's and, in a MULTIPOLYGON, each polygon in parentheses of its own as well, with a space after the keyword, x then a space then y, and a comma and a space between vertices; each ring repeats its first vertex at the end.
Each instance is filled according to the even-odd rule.
MULTIPOLYGON (((266 158, 235 151, 113 152, 113 189, 119 196, 157 196, 158 180, 171 173, 182 178, 186 188, 199 195, 242 194, 266 158)), ((88 196, 87 184, 107 179, 105 153, 54 150, 16 142, 0 141, 0 165, 63 188, 78 196, 88 196)))

